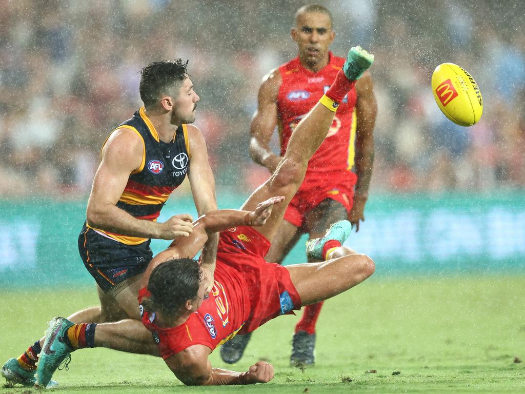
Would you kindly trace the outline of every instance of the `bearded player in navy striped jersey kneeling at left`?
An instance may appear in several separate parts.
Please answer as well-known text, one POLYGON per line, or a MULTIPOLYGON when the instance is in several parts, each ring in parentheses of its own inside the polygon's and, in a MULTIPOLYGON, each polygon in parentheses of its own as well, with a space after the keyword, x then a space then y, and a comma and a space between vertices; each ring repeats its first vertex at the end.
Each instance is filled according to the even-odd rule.
MULTIPOLYGON (((177 59, 144 67, 140 78, 144 106, 102 145, 87 220, 78 239, 82 261, 97 282, 100 307, 69 317, 84 322, 79 328, 82 338, 93 334, 95 326, 89 323, 140 318, 137 296, 140 278, 152 259, 151 239, 187 237, 193 229, 188 214, 157 222, 166 200, 186 176, 198 214, 217 209, 206 144, 201 130, 189 124, 195 121, 200 98, 186 65, 177 59)), ((34 385, 44 339, 4 364, 2 375, 9 384, 34 385)))

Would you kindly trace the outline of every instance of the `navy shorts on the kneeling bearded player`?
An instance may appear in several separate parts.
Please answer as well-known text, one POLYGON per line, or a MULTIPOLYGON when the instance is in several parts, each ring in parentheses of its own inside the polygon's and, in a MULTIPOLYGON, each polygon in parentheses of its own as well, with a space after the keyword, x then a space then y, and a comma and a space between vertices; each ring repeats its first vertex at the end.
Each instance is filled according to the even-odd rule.
POLYGON ((82 227, 78 251, 87 270, 104 292, 141 274, 153 258, 151 240, 139 245, 126 245, 82 227))

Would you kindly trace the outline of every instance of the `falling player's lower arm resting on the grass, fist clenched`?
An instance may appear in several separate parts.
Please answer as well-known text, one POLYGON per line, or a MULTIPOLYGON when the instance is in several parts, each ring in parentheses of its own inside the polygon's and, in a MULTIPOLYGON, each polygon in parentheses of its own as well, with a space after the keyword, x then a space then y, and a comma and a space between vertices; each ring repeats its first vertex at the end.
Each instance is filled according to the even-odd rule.
POLYGON ((258 361, 246 372, 236 372, 212 368, 209 354, 211 350, 208 347, 194 345, 164 361, 186 386, 253 385, 274 378, 274 367, 266 361, 258 361))

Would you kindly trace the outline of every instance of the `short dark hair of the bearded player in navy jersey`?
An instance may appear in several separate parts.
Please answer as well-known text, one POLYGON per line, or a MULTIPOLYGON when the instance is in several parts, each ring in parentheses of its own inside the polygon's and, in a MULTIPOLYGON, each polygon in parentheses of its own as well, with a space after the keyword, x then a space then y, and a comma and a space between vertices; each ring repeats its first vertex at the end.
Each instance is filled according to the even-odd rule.
POLYGON ((140 72, 140 98, 145 107, 156 103, 161 94, 171 89, 177 82, 188 78, 186 67, 188 61, 182 59, 154 61, 140 72))

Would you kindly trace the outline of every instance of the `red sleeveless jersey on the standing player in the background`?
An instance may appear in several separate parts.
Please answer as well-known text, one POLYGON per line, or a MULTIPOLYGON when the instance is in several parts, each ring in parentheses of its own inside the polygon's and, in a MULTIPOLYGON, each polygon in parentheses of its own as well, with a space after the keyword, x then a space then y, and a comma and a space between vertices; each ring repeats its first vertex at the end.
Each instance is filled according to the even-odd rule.
MULTIPOLYGON (((282 84, 277 94, 281 155, 285 153, 293 129, 328 90, 345 59, 329 54, 328 65, 318 72, 304 68, 299 58, 279 67, 282 84)), ((308 163, 305 180, 328 173, 351 171, 354 165, 355 103, 352 88, 339 106, 326 139, 308 163)))

